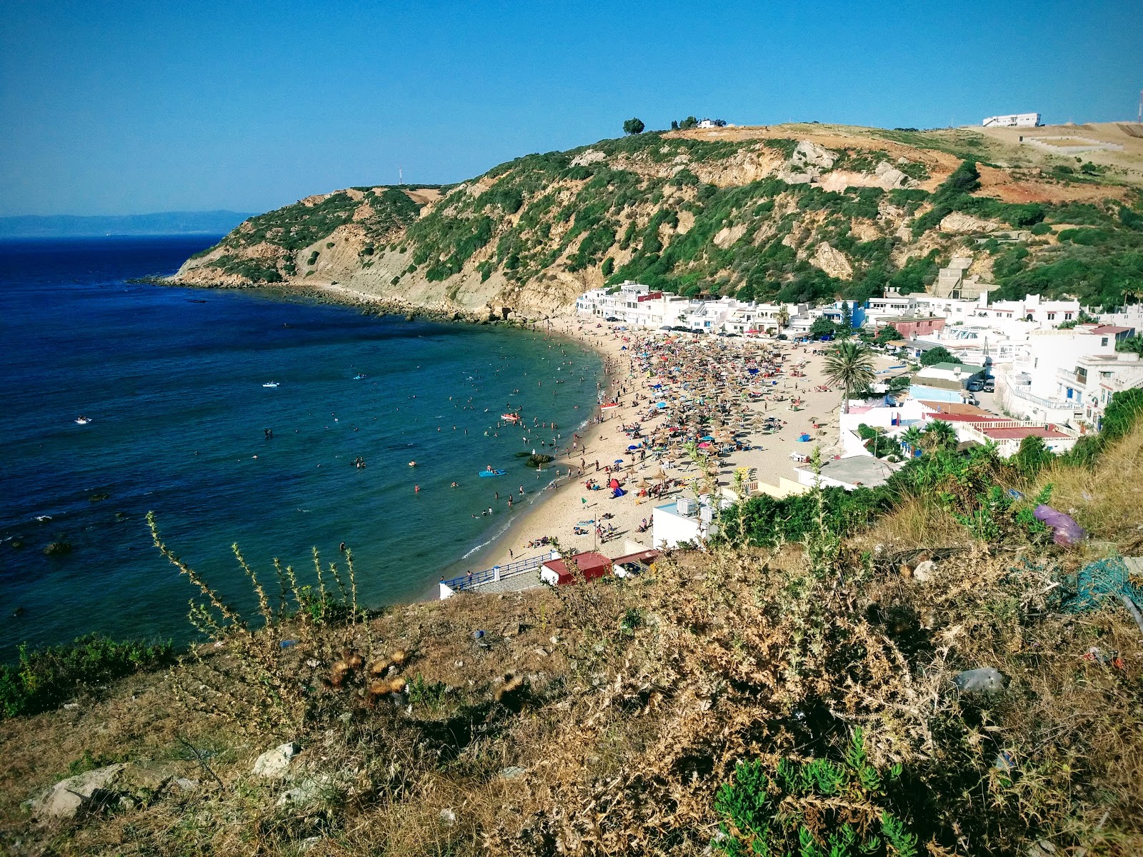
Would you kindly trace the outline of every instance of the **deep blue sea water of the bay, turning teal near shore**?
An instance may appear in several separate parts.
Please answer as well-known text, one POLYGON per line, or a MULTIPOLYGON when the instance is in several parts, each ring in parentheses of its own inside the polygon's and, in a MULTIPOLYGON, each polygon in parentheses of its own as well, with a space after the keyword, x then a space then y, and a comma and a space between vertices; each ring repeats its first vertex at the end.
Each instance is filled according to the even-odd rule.
POLYGON ((553 432, 497 436, 498 416, 568 438, 591 414, 599 358, 542 331, 126 282, 214 240, 0 241, 0 660, 95 631, 190 639, 194 592, 151 545, 151 510, 246 610, 235 542, 272 592, 272 556, 312 571, 311 546, 335 561, 344 540, 363 602, 416 599, 527 507, 509 494, 549 481, 514 454, 553 432), (478 478, 488 464, 509 474, 478 478), (57 539, 71 553, 45 555, 57 539))

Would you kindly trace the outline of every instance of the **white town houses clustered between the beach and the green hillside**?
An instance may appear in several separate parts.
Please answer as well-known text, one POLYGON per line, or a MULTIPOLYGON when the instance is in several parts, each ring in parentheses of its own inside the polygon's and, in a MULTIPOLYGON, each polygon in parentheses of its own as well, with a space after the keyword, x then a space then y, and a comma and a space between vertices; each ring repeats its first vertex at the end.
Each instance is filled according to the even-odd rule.
MULTIPOLYGON (((860 435, 862 427, 900 436, 910 426, 924 428, 935 419, 952 424, 961 443, 991 442, 1004 456, 1013 455, 1028 436, 1040 438, 1053 451, 1064 451, 1082 434, 1098 431, 1114 393, 1143 387, 1143 360, 1136 353, 1117 351, 1119 343, 1143 330, 1143 307, 1095 313, 1074 299, 1048 301, 1039 295, 990 301, 989 285, 980 285, 972 297, 890 290, 861 304, 810 306, 733 297, 701 299, 624 282, 588 291, 576 302, 576 310, 583 317, 664 334, 794 342, 808 338, 822 317, 836 323, 848 317, 854 328, 871 333, 894 328, 898 338, 885 347, 900 362, 886 371, 906 375, 908 384, 896 384, 890 392, 887 383, 879 383, 872 398, 850 401, 849 413, 841 415, 841 460, 871 455, 860 435), (959 362, 917 368, 925 352, 938 346, 959 362), (976 393, 981 391, 989 392, 991 411, 978 407, 976 393)), ((911 454, 903 447, 904 456, 911 454)), ((870 483, 864 465, 834 470, 838 484, 845 484, 842 474, 850 471, 861 476, 854 484, 870 483)), ((798 484, 783 482, 794 489, 798 484)))

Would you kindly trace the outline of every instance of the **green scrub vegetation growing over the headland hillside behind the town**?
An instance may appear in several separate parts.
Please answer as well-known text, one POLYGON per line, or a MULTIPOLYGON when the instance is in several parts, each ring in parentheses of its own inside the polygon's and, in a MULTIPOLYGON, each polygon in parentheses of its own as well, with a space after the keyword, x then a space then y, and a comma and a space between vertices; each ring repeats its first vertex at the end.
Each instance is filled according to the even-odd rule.
MULTIPOLYGON (((788 183, 778 174, 792 178, 801 169, 796 135, 692 139, 645 131, 503 163, 441 189, 443 195, 423 217, 418 203, 392 187, 360 189, 360 200, 339 191, 317 205, 287 206, 232 232, 221 253, 208 251, 215 255, 206 264, 253 283, 288 281, 313 264, 303 264, 307 258, 297 257, 299 250, 352 223, 363 230, 359 270, 398 253, 394 287, 447 281, 451 297, 472 274, 481 282, 502 277, 505 299, 559 274, 582 279, 584 287, 630 279, 689 296, 864 301, 887 286, 906 294, 924 290, 937 267, 966 246, 991 262, 991 279, 1004 297, 1074 295, 1086 305, 1111 307, 1140 291, 1143 205, 1137 191, 1124 202, 1002 202, 981 195, 976 167, 978 159, 993 157, 994 141, 970 131, 870 135, 829 150, 832 166, 818 171, 872 175, 887 163, 905 174, 908 186, 826 191, 804 181, 788 183), (916 159, 880 149, 878 135, 916 146, 916 159), (917 186, 930 178, 926 151, 964 158, 932 192, 917 186), (756 181, 719 178, 736 175, 748 162, 770 166, 743 174, 764 174, 756 181), (362 210, 366 205, 369 210, 362 210), (976 247, 973 235, 940 232, 953 213, 1031 237, 1010 242, 981 233, 982 241, 989 240, 976 247), (839 251, 848 270, 815 265, 822 243, 839 251), (258 246, 279 253, 255 253, 258 246)), ((1054 181, 1064 184, 1105 181, 1063 165, 1057 171, 1054 181)), ((352 275, 353 270, 342 274, 352 275)))

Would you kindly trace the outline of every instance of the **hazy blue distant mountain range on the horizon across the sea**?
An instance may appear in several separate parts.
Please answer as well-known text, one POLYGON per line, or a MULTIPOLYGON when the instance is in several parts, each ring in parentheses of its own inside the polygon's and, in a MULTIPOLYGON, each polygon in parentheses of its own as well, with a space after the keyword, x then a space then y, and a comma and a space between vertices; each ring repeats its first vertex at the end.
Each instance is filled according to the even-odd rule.
POLYGON ((120 217, 25 215, 0 217, 0 238, 224 234, 250 217, 240 211, 160 211, 120 217))

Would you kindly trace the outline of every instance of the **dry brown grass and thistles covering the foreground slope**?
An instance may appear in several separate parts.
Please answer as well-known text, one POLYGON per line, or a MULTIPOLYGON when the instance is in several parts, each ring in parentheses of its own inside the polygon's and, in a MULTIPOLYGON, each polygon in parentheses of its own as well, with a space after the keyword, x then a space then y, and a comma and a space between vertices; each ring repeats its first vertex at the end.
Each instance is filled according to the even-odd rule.
MULTIPOLYGON (((1045 479, 1096 536, 1125 545, 1138 531, 1141 450, 1143 431, 1094 474, 1045 479)), ((258 696, 226 664, 243 649, 223 647, 78 711, 0 723, 0 844, 698 855, 718 831, 714 791, 738 761, 829 755, 862 727, 878 767, 903 767, 890 798, 930 854, 1024 854, 1037 839, 1071 854, 1138 854, 1143 644, 1121 608, 1063 609, 1084 559, 973 543, 918 500, 846 545, 679 553, 654 577, 462 595, 327 628, 287 623, 249 639, 266 664, 267 643, 298 640, 273 668, 277 687, 297 691, 301 718, 254 716, 258 696), (874 566, 877 544, 961 550, 919 583, 874 566), (406 690, 370 698, 378 660, 400 662, 384 676, 405 679, 406 690), (951 679, 978 666, 1005 673, 1007 690, 958 694, 951 679), (235 686, 195 695, 192 679, 207 673, 235 686), (209 753, 222 785, 184 739, 209 753), (290 782, 253 777, 258 753, 288 739, 302 746, 290 782), (160 760, 200 786, 130 811, 33 824, 19 801, 85 750, 160 760), (505 776, 510 766, 522 775, 505 776), (278 806, 306 779, 321 784, 313 801, 278 806)))

